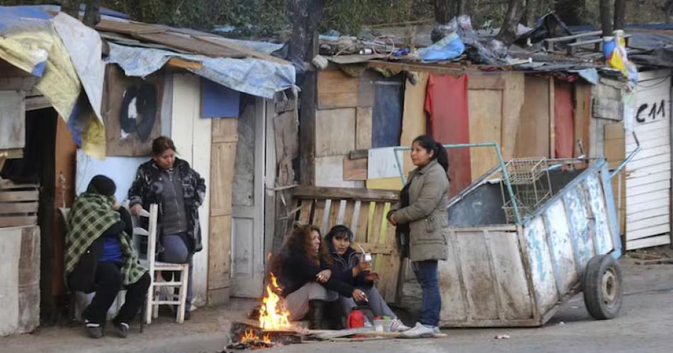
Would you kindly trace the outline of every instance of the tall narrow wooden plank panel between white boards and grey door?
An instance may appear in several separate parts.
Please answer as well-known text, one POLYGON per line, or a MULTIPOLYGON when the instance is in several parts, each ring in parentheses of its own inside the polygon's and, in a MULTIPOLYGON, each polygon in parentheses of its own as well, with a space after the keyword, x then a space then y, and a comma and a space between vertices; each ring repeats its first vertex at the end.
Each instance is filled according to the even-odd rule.
POLYGON ((210 236, 208 239, 208 303, 227 303, 230 296, 232 185, 238 120, 213 120, 210 146, 210 236))

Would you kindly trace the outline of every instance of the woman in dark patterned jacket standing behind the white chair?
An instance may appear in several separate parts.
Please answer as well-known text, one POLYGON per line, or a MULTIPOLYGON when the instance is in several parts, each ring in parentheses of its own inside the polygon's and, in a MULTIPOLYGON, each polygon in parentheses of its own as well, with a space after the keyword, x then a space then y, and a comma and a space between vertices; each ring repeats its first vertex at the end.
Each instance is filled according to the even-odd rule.
MULTIPOLYGON (((189 264, 185 306, 185 320, 189 320, 193 297, 192 259, 194 253, 203 248, 198 207, 205 198, 205 180, 189 163, 175 156, 175 144, 168 137, 152 141, 152 155, 152 160, 138 167, 128 191, 129 205, 131 213, 138 215, 141 209, 149 209, 150 204, 159 204, 157 253, 164 262, 189 264)), ((162 277, 170 280, 173 276, 162 273, 162 277)))

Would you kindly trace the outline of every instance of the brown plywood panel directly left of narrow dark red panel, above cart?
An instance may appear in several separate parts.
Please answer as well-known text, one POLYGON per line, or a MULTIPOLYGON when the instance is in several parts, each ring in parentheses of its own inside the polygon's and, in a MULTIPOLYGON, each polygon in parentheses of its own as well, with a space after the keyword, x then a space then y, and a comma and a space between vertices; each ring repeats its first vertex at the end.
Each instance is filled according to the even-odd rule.
POLYGON ((548 79, 526 76, 521 125, 516 137, 514 156, 549 157, 550 102, 548 79))

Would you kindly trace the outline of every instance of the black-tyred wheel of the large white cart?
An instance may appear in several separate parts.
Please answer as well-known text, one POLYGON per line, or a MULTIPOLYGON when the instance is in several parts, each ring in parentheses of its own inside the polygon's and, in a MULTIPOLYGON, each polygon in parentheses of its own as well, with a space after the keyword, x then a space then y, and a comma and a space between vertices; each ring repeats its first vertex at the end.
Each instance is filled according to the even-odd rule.
POLYGON ((592 257, 584 270, 584 304, 596 320, 617 316, 621 308, 621 270, 612 255, 592 257))

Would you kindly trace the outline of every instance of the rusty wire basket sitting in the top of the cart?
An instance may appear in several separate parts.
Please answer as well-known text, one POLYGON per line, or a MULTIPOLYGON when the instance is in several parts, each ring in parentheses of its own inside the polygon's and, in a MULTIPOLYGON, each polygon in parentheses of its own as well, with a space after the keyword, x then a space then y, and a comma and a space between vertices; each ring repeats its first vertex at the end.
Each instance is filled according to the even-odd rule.
MULTIPOLYGON (((545 158, 519 158, 505 165, 516 200, 516 208, 521 216, 533 214, 538 207, 551 197, 551 181, 545 158)), ((502 209, 507 223, 516 221, 516 212, 511 199, 505 197, 504 183, 500 183, 502 209)))

